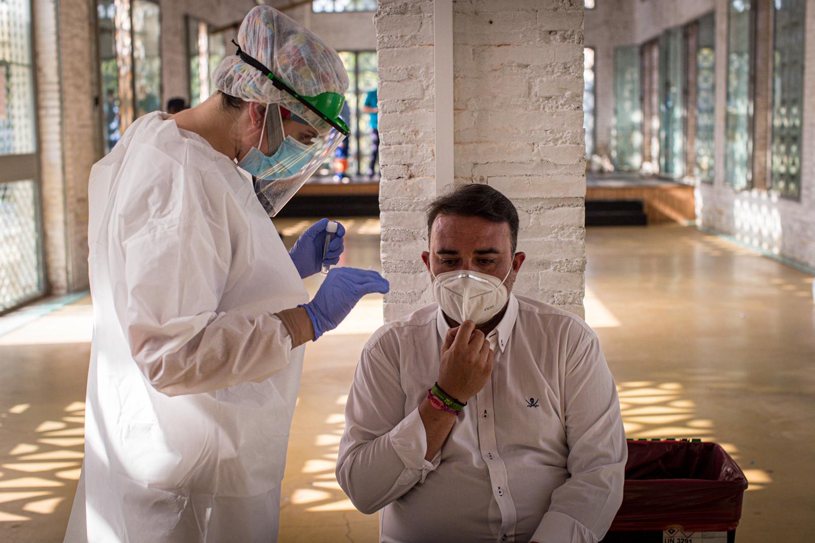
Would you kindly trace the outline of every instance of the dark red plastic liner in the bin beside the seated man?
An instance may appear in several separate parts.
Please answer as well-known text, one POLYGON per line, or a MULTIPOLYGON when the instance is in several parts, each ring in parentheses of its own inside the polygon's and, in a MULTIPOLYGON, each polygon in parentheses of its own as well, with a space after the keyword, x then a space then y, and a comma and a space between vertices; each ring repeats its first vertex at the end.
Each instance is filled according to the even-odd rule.
POLYGON ((742 517, 747 479, 715 443, 629 441, 623 504, 611 532, 729 532, 742 517))

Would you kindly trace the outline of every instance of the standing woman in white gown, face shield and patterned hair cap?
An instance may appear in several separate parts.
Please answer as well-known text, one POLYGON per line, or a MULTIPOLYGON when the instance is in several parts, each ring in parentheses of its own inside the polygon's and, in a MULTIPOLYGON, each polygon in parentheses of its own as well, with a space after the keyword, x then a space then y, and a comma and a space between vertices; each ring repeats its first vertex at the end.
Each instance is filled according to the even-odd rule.
POLYGON ((67 543, 276 541, 303 345, 376 272, 327 219, 287 253, 270 220, 347 135, 337 53, 271 7, 196 108, 135 121, 90 174, 94 337, 67 543))

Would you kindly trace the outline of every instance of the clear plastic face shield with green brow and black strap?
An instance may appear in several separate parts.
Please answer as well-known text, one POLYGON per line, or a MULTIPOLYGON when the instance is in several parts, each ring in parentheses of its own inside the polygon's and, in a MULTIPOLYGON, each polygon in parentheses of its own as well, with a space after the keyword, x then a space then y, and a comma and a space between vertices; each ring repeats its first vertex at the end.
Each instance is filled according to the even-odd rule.
POLYGON ((348 126, 339 117, 345 98, 332 92, 299 95, 269 68, 241 51, 240 46, 238 55, 268 77, 275 88, 315 113, 324 123, 323 128, 328 128, 317 130, 294 116, 284 122, 278 104, 267 104, 258 147, 250 149, 238 166, 254 176, 258 200, 269 216, 274 217, 349 134, 348 126), (267 153, 260 150, 264 135, 268 136, 267 153))

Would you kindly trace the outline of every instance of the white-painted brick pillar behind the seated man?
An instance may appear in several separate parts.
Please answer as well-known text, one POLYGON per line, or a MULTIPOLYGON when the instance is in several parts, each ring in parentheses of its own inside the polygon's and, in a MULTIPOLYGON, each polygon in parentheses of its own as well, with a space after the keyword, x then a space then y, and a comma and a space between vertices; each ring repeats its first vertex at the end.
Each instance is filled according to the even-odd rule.
MULTIPOLYGON (((521 217, 516 292, 583 315, 582 0, 453 3, 455 181, 488 183, 521 217)), ((434 5, 380 0, 385 320, 429 302, 425 207, 434 179, 434 5)), ((443 130, 442 130, 443 133, 443 130)))

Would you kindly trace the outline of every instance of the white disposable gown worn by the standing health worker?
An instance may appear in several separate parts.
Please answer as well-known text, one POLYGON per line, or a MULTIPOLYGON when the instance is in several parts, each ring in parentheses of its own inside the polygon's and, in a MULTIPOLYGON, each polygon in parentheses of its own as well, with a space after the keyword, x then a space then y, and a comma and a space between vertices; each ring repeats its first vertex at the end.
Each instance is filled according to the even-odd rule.
POLYGON ((165 113, 90 174, 94 336, 67 543, 276 541, 306 289, 252 184, 165 113))

